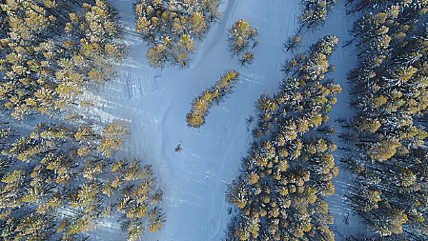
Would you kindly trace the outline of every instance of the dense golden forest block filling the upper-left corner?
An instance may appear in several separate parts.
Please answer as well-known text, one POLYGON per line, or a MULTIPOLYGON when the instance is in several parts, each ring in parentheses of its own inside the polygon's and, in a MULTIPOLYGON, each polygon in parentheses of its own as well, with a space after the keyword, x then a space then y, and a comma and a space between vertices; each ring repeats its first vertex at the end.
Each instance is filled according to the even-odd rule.
POLYGON ((105 1, 94 3, 2 1, 0 101, 14 118, 84 105, 86 87, 114 74, 119 27, 105 1))

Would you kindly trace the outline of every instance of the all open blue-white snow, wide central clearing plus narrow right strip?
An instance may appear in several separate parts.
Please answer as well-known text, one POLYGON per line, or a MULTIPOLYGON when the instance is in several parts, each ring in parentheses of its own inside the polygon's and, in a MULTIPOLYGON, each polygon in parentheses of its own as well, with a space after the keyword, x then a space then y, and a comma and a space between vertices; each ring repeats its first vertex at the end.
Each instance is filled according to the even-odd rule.
MULTIPOLYGON (((292 55, 284 53, 282 45, 287 36, 298 30, 300 0, 223 0, 223 18, 212 25, 203 43, 198 44, 192 64, 185 70, 175 66, 152 69, 145 59, 147 45, 134 34, 136 1, 110 2, 123 21, 129 56, 116 81, 97 90, 99 94, 94 98, 103 104, 94 109, 94 116, 101 116, 102 122, 123 120, 130 125, 132 136, 125 156, 143 158, 153 165, 160 178, 167 223, 163 231, 146 233, 143 240, 221 240, 230 219, 229 205, 224 201, 225 188, 238 176, 241 158, 252 141, 252 126, 245 118, 255 115, 255 103, 261 94, 276 92, 283 76, 281 63, 292 55), (259 32, 260 45, 254 50, 255 61, 249 67, 241 67, 227 50, 227 31, 238 19, 247 20, 259 32), (234 94, 211 109, 203 127, 187 127, 185 115, 193 98, 232 68, 241 72, 241 82, 234 94), (183 151, 175 153, 174 147, 179 143, 183 151)), ((303 34, 302 50, 325 34, 338 36, 341 45, 349 39, 347 31, 351 24, 345 19, 343 4, 339 2, 332 10, 323 30, 303 34)), ((355 59, 351 50, 339 48, 332 56, 336 65, 333 77, 344 87, 332 111, 332 121, 337 116, 351 116, 345 78, 355 59)), ((342 169, 335 180, 336 194, 328 198, 339 232, 354 231, 358 225, 358 221, 349 218, 347 227, 343 220, 349 212, 343 202, 349 183, 347 176, 342 169)), ((118 228, 116 224, 100 227, 91 238, 123 240, 118 228)), ((336 237, 341 240, 340 235, 336 237)))

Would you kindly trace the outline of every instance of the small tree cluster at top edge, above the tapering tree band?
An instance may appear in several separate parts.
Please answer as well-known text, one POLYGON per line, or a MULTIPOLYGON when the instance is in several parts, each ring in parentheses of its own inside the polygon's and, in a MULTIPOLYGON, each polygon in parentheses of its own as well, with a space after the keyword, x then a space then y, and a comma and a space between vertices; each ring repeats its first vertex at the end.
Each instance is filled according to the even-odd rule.
MULTIPOLYGON (((303 12, 299 16, 300 29, 298 34, 305 28, 316 28, 324 25, 328 10, 332 8, 337 0, 301 0, 303 12)), ((373 3, 370 3, 373 4, 373 3)))

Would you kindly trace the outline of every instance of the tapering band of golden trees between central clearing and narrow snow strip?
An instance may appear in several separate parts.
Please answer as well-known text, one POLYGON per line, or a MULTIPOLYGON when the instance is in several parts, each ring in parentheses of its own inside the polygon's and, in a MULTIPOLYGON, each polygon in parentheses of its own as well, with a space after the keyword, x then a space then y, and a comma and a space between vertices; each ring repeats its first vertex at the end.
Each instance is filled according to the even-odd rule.
POLYGON ((227 188, 238 207, 225 240, 334 240, 333 217, 323 196, 334 193, 338 175, 325 125, 336 104, 338 84, 325 80, 327 57, 338 39, 325 36, 308 56, 300 55, 274 96, 258 100, 254 143, 243 173, 227 188))

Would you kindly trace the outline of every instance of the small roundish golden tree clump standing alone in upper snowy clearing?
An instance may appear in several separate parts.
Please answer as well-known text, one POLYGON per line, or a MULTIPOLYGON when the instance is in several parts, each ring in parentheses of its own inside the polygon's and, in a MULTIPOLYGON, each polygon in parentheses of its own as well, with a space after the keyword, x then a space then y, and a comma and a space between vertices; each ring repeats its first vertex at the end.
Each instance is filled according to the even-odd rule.
POLYGON ((229 34, 229 48, 233 54, 240 56, 241 65, 250 65, 254 62, 254 54, 248 51, 258 45, 256 36, 258 34, 255 28, 244 19, 236 21, 229 34))

